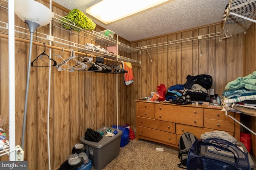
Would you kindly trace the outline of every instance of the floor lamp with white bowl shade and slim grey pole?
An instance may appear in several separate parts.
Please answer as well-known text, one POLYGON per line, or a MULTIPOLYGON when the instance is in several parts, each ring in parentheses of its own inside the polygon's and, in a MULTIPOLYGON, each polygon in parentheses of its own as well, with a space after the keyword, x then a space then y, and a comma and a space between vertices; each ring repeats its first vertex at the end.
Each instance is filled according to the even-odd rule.
POLYGON ((30 44, 29 44, 29 58, 28 58, 28 74, 27 74, 27 84, 26 84, 26 97, 25 97, 25 106, 24 106, 24 116, 23 116, 23 126, 22 126, 22 140, 21 148, 24 148, 24 136, 26 129, 26 117, 27 117, 27 107, 28 107, 28 87, 30 79, 30 63, 32 55, 32 41, 34 31, 38 27, 47 25, 53 17, 52 11, 36 2, 34 0, 15 0, 14 2, 14 12, 15 14, 24 21, 30 31, 30 44))

